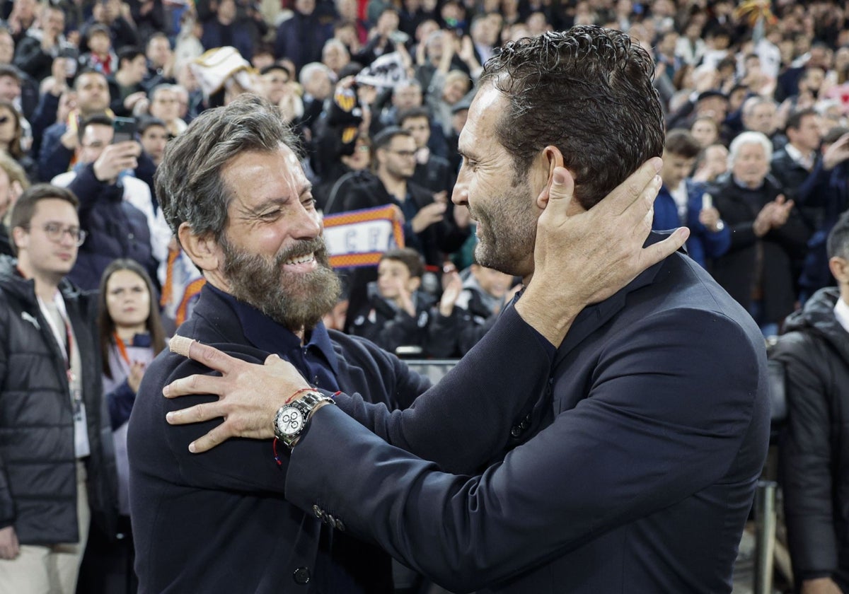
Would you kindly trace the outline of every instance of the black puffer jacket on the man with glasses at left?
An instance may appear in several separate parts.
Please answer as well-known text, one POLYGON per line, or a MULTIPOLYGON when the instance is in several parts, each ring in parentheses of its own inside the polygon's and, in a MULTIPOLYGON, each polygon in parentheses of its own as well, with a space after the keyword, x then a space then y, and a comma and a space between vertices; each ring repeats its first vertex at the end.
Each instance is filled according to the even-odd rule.
MULTIPOLYGON (((82 394, 91 455, 85 459, 92 516, 113 534, 117 479, 109 413, 95 345, 96 300, 60 289, 82 356, 82 394)), ((0 257, 0 528, 21 544, 77 542, 74 419, 65 360, 35 286, 0 257)))

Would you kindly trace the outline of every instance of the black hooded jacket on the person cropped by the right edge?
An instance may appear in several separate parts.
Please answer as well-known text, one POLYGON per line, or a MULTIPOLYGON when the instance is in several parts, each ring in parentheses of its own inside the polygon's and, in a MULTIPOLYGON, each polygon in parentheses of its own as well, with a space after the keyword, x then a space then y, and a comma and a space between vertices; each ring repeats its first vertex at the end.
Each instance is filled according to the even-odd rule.
POLYGON ((785 369, 781 469, 793 574, 830 576, 849 591, 849 332, 835 317, 838 297, 821 289, 788 317, 771 357, 785 369))

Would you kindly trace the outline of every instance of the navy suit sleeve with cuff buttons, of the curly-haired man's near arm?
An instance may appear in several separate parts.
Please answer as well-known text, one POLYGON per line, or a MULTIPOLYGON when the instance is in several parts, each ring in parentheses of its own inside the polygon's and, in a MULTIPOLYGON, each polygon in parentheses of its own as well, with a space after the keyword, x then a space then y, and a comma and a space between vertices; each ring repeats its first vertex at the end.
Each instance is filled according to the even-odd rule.
MULTIPOLYGON (((760 391, 752 370, 765 358, 736 322, 706 311, 631 326, 599 361, 588 397, 555 411, 552 424, 483 474, 443 473, 325 406, 292 452, 286 498, 319 505, 452 591, 506 580, 681 502, 731 468, 760 391)), ((475 400, 451 396, 430 440, 453 439, 449 430, 463 427, 486 435, 475 400)), ((514 396, 495 389, 487 397, 514 396)))

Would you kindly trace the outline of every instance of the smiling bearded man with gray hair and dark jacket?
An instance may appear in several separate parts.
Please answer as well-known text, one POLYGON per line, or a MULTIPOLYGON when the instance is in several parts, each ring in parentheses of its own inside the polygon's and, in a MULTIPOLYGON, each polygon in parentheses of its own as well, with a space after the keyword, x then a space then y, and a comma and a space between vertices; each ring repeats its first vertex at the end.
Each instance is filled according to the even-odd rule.
MULTIPOLYGON (((206 280, 180 332, 245 361, 277 354, 331 392, 368 394, 392 408, 409 403, 426 380, 400 373, 400 361, 362 339, 331 339, 321 322, 340 283, 296 147, 277 109, 247 96, 205 111, 169 145, 156 191, 206 280)), ((197 432, 167 428, 162 387, 201 369, 160 357, 132 412, 139 591, 390 592, 385 553, 352 546, 284 501, 270 441, 231 441, 192 456, 186 444, 197 432)))

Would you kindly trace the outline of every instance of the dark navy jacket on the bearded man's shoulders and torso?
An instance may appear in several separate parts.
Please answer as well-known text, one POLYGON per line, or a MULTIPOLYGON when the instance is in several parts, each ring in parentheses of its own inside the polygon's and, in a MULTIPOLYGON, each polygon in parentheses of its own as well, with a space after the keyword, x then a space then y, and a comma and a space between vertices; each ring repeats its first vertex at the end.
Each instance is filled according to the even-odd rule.
MULTIPOLYGON (((245 361, 262 363, 268 356, 250 344, 232 305, 208 285, 178 333, 245 361)), ((366 340, 337 332, 330 338, 335 378, 346 391, 395 408, 430 385, 366 340)), ((391 592, 385 554, 284 501, 288 457, 282 444, 280 468, 271 440, 229 440, 204 454, 189 453, 189 442, 218 420, 172 427, 166 412, 214 399, 171 401, 162 388, 193 373, 209 370, 160 353, 132 409, 130 508, 139 592, 391 592), (312 577, 303 586, 305 576, 312 577)))

